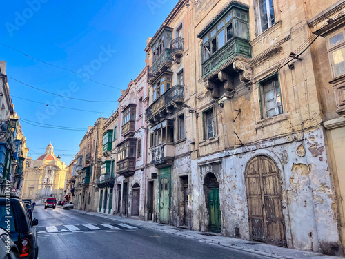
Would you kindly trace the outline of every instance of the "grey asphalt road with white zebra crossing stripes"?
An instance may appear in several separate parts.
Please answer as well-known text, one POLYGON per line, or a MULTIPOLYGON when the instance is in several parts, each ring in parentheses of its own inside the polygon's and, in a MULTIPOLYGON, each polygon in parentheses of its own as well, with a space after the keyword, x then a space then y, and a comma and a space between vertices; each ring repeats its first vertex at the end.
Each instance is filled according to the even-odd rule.
POLYGON ((63 210, 61 206, 54 210, 36 206, 33 218, 39 220, 39 259, 266 258, 75 210, 63 210))

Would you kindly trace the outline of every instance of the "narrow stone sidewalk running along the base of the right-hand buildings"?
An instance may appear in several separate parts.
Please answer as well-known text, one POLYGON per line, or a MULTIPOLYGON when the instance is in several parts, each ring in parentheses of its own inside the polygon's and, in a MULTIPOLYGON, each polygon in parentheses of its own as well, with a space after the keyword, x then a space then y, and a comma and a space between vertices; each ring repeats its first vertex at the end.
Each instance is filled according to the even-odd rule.
MULTIPOLYGON (((79 211, 79 210, 75 210, 79 211)), ((288 249, 284 247, 276 247, 270 244, 264 244, 260 242, 251 242, 247 240, 242 240, 238 238, 228 238, 226 236, 220 236, 216 233, 204 233, 198 231, 191 231, 187 229, 182 229, 175 226, 170 226, 166 224, 158 224, 153 222, 148 222, 144 220, 135 220, 132 218, 122 218, 116 215, 106 215, 96 212, 85 212, 79 211, 79 213, 93 215, 100 218, 106 218, 108 220, 117 220, 124 223, 132 224, 138 227, 152 229, 155 231, 162 231, 165 233, 170 233, 177 236, 184 236, 186 238, 192 238, 194 240, 199 240, 199 242, 206 242, 208 244, 221 245, 223 247, 228 247, 229 249, 236 249, 241 251, 246 251, 248 253, 256 254, 257 256, 267 256, 270 258, 277 259, 295 259, 295 258, 306 258, 306 259, 339 259, 337 256, 324 256, 320 253, 313 253, 309 251, 301 251, 296 249, 288 249)))

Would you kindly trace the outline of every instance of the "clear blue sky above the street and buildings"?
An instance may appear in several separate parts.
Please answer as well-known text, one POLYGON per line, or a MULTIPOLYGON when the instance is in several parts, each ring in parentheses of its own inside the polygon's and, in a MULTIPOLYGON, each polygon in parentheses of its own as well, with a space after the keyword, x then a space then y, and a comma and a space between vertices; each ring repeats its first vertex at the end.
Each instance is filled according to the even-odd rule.
POLYGON ((117 101, 121 95, 119 89, 126 89, 130 79, 135 79, 144 68, 146 40, 157 32, 177 2, 29 0, 3 3, 0 60, 7 64, 10 94, 14 110, 21 117, 30 148, 28 155, 36 159, 52 142, 55 155, 60 155, 66 163, 72 160, 88 125, 117 109, 117 102, 108 101, 117 101), (101 84, 48 66, 1 44, 101 84), (101 102, 50 95, 19 81, 58 95, 101 102), (40 124, 33 126, 32 122, 40 124), (49 126, 43 124, 78 131, 47 128, 49 126))

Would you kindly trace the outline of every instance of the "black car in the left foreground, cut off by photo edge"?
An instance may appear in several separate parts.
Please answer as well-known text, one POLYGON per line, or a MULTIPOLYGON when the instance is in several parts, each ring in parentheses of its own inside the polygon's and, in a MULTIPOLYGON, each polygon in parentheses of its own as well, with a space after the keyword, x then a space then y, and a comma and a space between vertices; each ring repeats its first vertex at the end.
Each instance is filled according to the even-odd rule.
POLYGON ((10 237, 17 245, 20 258, 37 259, 37 231, 34 225, 38 220, 31 220, 26 205, 19 198, 0 197, 0 227, 10 232, 10 237))

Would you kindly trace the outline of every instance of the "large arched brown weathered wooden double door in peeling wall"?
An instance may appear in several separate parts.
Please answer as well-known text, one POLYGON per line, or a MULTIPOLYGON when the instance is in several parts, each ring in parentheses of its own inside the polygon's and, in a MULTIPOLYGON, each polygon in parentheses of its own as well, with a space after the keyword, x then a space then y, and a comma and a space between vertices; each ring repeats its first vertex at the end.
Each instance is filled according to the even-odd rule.
POLYGON ((285 247, 282 189, 273 160, 259 156, 248 163, 246 189, 250 238, 285 247))

